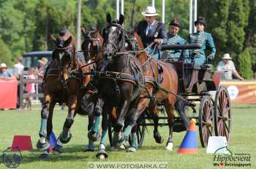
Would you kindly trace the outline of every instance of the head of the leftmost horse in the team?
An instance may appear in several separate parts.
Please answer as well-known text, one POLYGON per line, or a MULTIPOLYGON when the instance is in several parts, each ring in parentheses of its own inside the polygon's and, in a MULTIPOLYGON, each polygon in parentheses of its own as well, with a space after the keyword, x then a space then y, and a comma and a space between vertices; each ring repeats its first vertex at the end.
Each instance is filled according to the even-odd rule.
POLYGON ((75 39, 67 28, 60 29, 59 37, 55 38, 51 35, 50 38, 56 44, 53 59, 57 60, 61 74, 64 74, 64 79, 67 79, 68 70, 75 68, 75 39))

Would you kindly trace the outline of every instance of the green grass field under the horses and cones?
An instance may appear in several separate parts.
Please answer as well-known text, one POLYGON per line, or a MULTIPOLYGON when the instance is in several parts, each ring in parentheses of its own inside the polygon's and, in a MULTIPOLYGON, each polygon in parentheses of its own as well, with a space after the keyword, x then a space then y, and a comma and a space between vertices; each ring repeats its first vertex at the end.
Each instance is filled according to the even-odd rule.
MULTIPOLYGON (((61 111, 57 106, 53 114, 53 131, 57 135, 66 118, 66 111, 61 111)), ((251 154, 252 168, 256 168, 256 105, 236 105, 232 109, 233 130, 230 141, 230 150, 233 153, 251 154)), ((39 107, 33 111, 0 111, 0 151, 3 152, 12 145, 13 135, 31 135, 34 150, 22 152, 23 160, 18 168, 87 168, 87 162, 99 161, 95 157, 96 152, 82 152, 87 146, 87 118, 76 117, 72 126, 73 138, 69 144, 64 145, 64 153, 61 156, 50 156, 47 160, 40 160, 39 152, 35 149, 40 122, 39 107)), ((160 127, 160 132, 165 137, 168 128, 160 127)), ((200 138, 197 135, 199 154, 177 154, 178 146, 186 132, 174 133, 173 152, 167 152, 164 144, 157 144, 153 138, 153 129, 148 127, 148 133, 144 139, 143 147, 135 153, 109 152, 109 158, 105 161, 128 162, 168 162, 169 168, 214 168, 213 155, 206 154, 206 149, 200 146, 200 138)), ((197 131, 198 134, 198 131, 197 131)), ((97 143, 98 145, 98 143, 97 143)), ((109 150, 109 147, 108 147, 109 150)), ((0 160, 0 168, 6 168, 0 160)), ((218 167, 220 168, 220 167, 218 167)), ((233 167, 234 168, 234 167, 233 167)), ((236 167, 238 168, 238 167, 236 167)))

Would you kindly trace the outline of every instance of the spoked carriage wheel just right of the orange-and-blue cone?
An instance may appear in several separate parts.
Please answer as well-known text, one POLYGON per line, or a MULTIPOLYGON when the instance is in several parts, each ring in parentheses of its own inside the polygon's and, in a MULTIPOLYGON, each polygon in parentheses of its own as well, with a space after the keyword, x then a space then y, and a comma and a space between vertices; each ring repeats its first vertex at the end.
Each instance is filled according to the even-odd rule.
POLYGON ((200 141, 202 146, 206 147, 208 138, 214 134, 214 111, 208 97, 203 97, 200 101, 198 122, 200 141))

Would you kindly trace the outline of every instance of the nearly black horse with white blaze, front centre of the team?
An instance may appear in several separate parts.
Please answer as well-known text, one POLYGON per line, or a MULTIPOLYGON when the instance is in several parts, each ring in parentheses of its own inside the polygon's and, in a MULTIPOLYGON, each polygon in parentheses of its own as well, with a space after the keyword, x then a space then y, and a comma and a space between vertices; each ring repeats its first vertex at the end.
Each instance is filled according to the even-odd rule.
MULTIPOLYGON (((107 15, 108 25, 102 32, 104 38, 103 64, 99 74, 99 94, 94 114, 102 114, 102 137, 97 157, 105 158, 106 133, 108 130, 108 116, 113 107, 116 108, 117 121, 114 124, 113 144, 118 144, 118 134, 124 127, 124 122, 135 124, 135 111, 144 84, 143 71, 135 55, 123 53, 125 50, 124 16, 112 21, 107 15)), ((129 129, 131 130, 131 128, 129 129)), ((127 136, 127 135, 126 135, 127 136)))

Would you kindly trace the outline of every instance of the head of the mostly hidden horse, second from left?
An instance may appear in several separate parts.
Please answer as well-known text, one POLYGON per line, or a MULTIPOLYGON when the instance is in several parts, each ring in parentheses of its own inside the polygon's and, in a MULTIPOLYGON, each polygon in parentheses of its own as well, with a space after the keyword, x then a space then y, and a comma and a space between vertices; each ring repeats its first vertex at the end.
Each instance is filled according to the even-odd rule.
POLYGON ((81 45, 85 60, 99 59, 99 55, 102 52, 103 38, 99 34, 99 28, 95 28, 94 25, 90 25, 89 30, 81 28, 84 41, 81 45))

